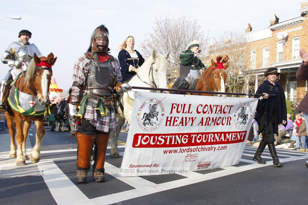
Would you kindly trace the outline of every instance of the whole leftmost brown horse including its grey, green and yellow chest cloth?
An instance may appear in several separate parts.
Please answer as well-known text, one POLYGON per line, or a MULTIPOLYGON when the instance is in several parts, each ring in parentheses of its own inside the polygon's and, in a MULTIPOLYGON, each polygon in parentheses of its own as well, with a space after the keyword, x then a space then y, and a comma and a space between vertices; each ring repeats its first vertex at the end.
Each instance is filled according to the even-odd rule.
POLYGON ((46 114, 49 109, 48 89, 52 76, 51 66, 56 59, 53 53, 40 58, 34 53, 34 58, 30 61, 26 72, 22 72, 12 83, 8 97, 9 106, 5 115, 11 136, 10 157, 17 157, 18 166, 26 165, 25 160, 28 159, 26 137, 32 121, 36 125, 36 142, 30 154, 30 160, 33 163, 40 160, 45 134, 44 113, 46 114), (17 133, 17 148, 15 133, 17 133))

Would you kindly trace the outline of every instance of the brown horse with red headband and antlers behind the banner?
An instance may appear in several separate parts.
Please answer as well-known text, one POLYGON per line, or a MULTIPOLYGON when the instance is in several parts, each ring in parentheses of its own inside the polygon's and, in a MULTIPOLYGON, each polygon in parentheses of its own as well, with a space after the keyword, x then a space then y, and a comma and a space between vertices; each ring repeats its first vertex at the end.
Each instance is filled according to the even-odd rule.
MULTIPOLYGON (((217 63, 211 59, 211 65, 199 77, 194 90, 197 91, 210 91, 210 92, 225 92, 225 81, 227 79, 227 69, 230 63, 227 63, 229 56, 224 58, 222 55, 216 57, 217 63), (222 61, 221 61, 222 59, 222 61), (221 61, 221 62, 220 62, 221 61), (223 65, 225 64, 225 65, 223 65)), ((193 93, 193 95, 212 96, 209 93, 193 93)), ((221 96, 221 95, 218 95, 221 96)))

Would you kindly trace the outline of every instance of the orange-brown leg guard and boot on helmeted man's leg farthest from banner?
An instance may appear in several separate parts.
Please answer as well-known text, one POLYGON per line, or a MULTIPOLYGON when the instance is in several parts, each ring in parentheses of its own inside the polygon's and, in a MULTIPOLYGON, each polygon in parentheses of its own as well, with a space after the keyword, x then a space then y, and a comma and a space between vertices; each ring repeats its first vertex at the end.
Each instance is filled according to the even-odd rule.
POLYGON ((96 133, 84 133, 80 130, 76 133, 77 149, 77 173, 76 181, 85 183, 87 172, 90 170, 91 151, 94 145, 96 133))

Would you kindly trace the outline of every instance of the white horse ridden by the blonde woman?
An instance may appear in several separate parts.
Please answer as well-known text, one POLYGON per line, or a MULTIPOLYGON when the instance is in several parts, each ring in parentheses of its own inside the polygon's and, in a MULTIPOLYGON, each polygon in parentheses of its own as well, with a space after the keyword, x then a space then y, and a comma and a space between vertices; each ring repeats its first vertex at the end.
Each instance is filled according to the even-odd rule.
MULTIPOLYGON (((129 80, 128 84, 131 86, 147 87, 147 88, 168 88, 167 85, 167 70, 169 53, 165 55, 156 54, 153 51, 144 64, 139 68, 137 75, 129 80)), ((118 137, 121 132, 121 127, 124 125, 125 119, 127 123, 131 123, 132 108, 135 98, 136 89, 132 89, 128 92, 123 93, 120 104, 123 106, 124 112, 121 110, 121 105, 118 107, 118 126, 115 131, 110 132, 111 150, 110 155, 112 158, 119 157, 118 150, 118 137)), ((141 90, 138 90, 141 91, 141 90)), ((142 90, 142 92, 153 92, 151 90, 142 90)), ((164 91, 160 91, 164 92, 164 91)))

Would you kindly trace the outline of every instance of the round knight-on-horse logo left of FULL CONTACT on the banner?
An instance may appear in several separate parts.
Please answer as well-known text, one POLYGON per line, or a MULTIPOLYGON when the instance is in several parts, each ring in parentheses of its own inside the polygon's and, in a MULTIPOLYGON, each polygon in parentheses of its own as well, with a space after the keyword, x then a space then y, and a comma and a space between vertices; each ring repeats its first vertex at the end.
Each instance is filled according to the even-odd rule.
POLYGON ((145 131, 157 129, 164 118, 164 105, 160 100, 148 99, 140 105, 137 112, 137 123, 145 131))

